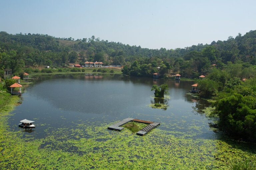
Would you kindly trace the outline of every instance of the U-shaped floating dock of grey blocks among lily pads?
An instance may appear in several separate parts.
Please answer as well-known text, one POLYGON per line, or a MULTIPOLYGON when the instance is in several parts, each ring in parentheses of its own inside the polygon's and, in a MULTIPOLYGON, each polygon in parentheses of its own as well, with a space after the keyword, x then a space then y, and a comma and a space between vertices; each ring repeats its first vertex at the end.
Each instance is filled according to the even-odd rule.
POLYGON ((133 119, 133 118, 126 118, 114 125, 111 125, 108 127, 108 129, 110 130, 118 130, 121 131, 124 128, 121 127, 124 124, 127 124, 128 122, 138 122, 138 123, 143 123, 143 124, 148 124, 148 126, 140 129, 136 134, 140 135, 140 136, 144 136, 145 134, 147 134, 150 130, 152 130, 153 128, 156 128, 157 126, 160 125, 160 123, 158 122, 149 122, 149 121, 143 121, 143 120, 139 120, 139 119, 133 119))

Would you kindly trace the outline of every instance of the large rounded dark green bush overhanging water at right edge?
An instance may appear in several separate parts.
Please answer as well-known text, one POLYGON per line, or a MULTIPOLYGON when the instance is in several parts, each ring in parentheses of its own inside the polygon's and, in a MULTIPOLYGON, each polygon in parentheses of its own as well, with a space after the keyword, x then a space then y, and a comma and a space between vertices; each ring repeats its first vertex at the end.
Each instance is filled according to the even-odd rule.
POLYGON ((233 94, 216 103, 219 127, 236 137, 256 140, 256 98, 233 94))

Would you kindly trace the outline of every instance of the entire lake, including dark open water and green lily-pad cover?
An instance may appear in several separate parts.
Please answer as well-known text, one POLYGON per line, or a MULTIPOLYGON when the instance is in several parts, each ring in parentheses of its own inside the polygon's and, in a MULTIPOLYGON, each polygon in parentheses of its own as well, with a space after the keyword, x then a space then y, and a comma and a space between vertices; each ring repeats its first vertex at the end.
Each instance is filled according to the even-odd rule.
MULTIPOLYGON (((216 155, 221 157, 221 149, 232 144, 209 128, 214 120, 197 112, 209 103, 186 94, 192 84, 113 74, 39 76, 11 112, 8 130, 16 142, 6 152, 13 160, 3 158, 0 165, 12 169, 219 169, 221 165, 225 169, 230 164, 222 165, 216 155), (163 83, 170 94, 155 99, 152 85, 163 83), (150 106, 154 103, 168 107, 155 109, 150 106), (145 136, 107 129, 125 118, 161 125, 145 136), (23 119, 35 121, 36 128, 18 128, 23 119)), ((240 155, 255 156, 245 151, 248 148, 239 149, 240 155)))

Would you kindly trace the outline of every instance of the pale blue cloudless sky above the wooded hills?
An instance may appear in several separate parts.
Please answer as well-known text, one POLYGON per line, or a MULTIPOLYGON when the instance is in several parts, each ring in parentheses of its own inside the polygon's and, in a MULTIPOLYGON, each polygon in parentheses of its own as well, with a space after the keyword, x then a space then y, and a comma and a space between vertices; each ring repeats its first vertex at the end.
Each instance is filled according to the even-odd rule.
POLYGON ((255 0, 2 0, 0 31, 184 48, 256 30, 255 0))

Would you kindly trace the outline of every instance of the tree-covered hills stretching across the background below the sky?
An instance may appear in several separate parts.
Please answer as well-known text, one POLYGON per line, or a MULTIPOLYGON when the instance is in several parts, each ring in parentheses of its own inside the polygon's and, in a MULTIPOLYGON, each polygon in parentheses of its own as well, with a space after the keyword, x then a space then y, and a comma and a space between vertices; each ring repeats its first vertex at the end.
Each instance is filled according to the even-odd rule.
MULTIPOLYGON (((21 72, 25 67, 102 61, 105 65, 123 65, 123 72, 134 76, 151 76, 154 72, 179 73, 197 77, 207 74, 212 64, 239 63, 241 69, 256 64, 256 30, 238 34, 227 41, 213 41, 176 49, 148 49, 120 42, 108 42, 92 36, 74 40, 42 34, 8 34, 0 32, 0 73, 4 68, 21 72), (158 68, 157 68, 158 67, 158 68), (160 68, 159 68, 160 67, 160 68)), ((249 75, 246 75, 249 76, 249 75)))

